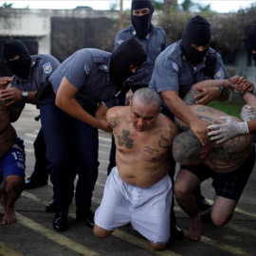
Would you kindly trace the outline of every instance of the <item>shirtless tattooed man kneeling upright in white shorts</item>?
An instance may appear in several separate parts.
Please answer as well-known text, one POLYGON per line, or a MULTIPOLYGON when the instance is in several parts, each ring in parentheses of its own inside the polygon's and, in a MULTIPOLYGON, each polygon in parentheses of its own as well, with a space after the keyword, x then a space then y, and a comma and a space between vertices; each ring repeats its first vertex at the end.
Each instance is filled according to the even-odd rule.
POLYGON ((158 94, 145 87, 135 92, 129 106, 107 112, 117 167, 107 178, 95 214, 94 234, 99 238, 131 223, 154 249, 167 246, 172 203, 169 157, 177 128, 160 113, 160 104, 158 94))

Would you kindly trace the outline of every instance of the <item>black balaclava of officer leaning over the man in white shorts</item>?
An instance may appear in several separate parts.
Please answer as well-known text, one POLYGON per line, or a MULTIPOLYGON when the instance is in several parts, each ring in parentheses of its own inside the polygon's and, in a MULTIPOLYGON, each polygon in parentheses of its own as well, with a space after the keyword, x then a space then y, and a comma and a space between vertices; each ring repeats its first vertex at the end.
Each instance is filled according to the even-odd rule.
POLYGON ((147 59, 143 46, 136 38, 122 42, 113 52, 110 60, 109 77, 111 82, 124 82, 134 73, 129 69, 129 65, 140 66, 147 59))

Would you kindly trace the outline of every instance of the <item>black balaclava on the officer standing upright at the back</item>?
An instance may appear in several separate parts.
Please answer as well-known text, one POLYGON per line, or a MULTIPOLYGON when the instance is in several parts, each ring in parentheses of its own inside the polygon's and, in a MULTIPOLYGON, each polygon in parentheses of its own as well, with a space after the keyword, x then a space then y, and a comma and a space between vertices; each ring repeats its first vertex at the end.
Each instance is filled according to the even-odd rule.
POLYGON ((133 0, 132 1, 132 9, 131 9, 131 19, 132 24, 135 27, 137 37, 139 39, 144 39, 151 29, 151 17, 154 12, 154 7, 150 0, 133 0), (133 15, 134 9, 144 9, 148 8, 150 9, 150 12, 148 14, 142 15, 142 16, 135 16, 133 15))

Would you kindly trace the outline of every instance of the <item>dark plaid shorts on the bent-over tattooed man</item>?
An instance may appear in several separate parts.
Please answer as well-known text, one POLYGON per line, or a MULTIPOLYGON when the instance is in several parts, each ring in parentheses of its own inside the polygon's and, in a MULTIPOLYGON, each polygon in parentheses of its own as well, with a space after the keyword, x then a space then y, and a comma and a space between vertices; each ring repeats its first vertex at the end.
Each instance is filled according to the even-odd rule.
POLYGON ((251 174, 255 162, 255 149, 245 163, 236 171, 228 174, 218 174, 204 164, 181 166, 182 169, 196 175, 201 181, 212 178, 212 187, 216 195, 238 201, 244 191, 249 175, 251 174))

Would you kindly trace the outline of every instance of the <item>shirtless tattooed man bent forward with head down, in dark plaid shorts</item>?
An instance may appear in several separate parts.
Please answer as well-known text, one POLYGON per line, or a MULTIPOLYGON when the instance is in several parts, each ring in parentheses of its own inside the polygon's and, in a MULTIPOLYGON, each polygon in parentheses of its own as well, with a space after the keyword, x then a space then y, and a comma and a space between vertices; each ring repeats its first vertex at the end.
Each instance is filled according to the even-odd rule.
MULTIPOLYGON (((199 119, 210 125, 225 123, 226 120, 220 117, 230 117, 209 106, 195 104, 195 94, 197 91, 192 87, 184 101, 199 119)), ((224 226, 231 219, 253 170, 254 135, 233 137, 219 144, 211 140, 209 145, 202 147, 186 123, 176 119, 176 124, 186 132, 174 138, 174 159, 181 165, 174 184, 174 194, 179 206, 191 217, 192 226, 188 236, 192 240, 199 240, 201 216, 211 217, 216 226, 224 226), (192 191, 210 177, 213 179, 212 186, 216 192, 214 204, 211 210, 199 215, 192 191)))

